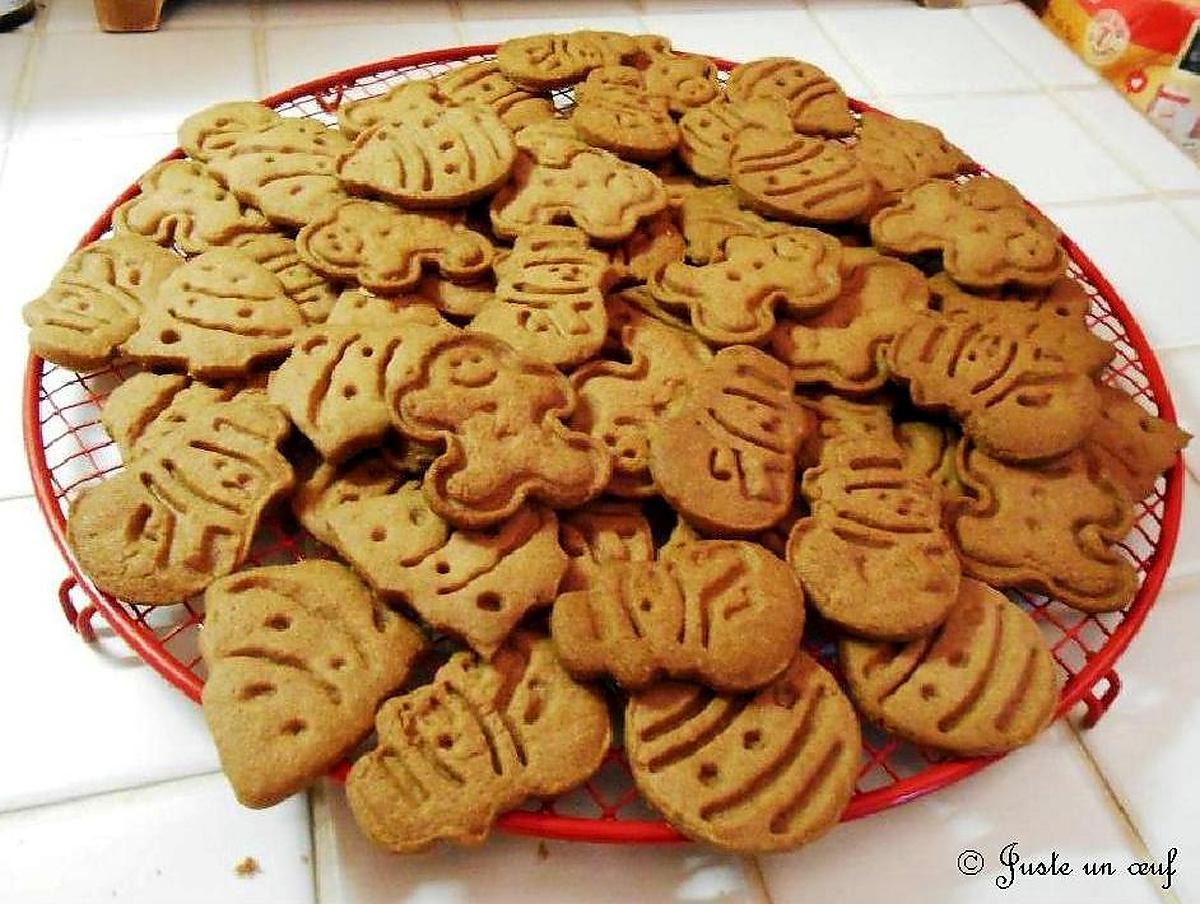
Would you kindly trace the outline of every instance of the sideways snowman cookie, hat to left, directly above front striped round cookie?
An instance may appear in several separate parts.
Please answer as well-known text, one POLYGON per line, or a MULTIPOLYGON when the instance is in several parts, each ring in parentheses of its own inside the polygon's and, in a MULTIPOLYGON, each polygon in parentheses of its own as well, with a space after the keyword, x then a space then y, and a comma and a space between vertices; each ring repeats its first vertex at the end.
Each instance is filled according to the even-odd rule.
POLYGON ((665 678, 761 688, 787 667, 803 630, 804 594, 786 563, 742 540, 600 567, 587 589, 559 595, 550 617, 571 675, 610 675, 626 690, 665 678))

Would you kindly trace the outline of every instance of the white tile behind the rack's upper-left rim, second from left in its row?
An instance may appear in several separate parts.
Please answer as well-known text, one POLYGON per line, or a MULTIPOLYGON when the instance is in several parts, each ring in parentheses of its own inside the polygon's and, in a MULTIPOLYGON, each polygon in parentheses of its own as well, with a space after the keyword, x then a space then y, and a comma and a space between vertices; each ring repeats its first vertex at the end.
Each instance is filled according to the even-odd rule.
POLYGON ((454 23, 314 25, 266 32, 266 90, 419 50, 461 44, 454 23))

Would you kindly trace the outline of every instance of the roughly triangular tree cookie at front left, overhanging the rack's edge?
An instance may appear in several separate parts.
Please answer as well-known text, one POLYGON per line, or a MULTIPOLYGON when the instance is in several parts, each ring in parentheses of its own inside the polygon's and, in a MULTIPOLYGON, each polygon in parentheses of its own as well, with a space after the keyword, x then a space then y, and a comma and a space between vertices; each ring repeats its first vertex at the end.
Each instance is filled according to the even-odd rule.
POLYGON ((337 765, 425 647, 334 562, 228 575, 204 604, 204 719, 246 807, 278 803, 337 765))

